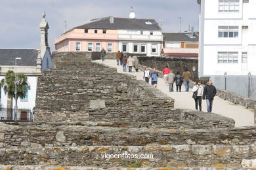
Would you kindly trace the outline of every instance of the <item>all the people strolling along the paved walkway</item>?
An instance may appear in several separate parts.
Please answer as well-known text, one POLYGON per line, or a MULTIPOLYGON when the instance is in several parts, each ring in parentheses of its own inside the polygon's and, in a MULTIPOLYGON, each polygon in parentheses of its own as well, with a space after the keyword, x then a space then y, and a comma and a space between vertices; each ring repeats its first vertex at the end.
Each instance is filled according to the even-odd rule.
MULTIPOLYGON (((105 56, 106 56, 106 50, 102 48, 102 50, 100 51, 100 58, 102 59, 102 61, 104 61, 105 56)), ((129 58, 127 58, 127 56, 123 55, 123 52, 118 51, 116 54, 116 61, 117 61, 117 65, 123 65, 124 72, 128 68, 129 73, 131 73, 133 67, 135 68, 136 72, 139 72, 139 59, 137 59, 136 56, 133 56, 133 57, 129 56, 129 58)), ((182 73, 182 75, 179 71, 177 71, 175 75, 173 73, 173 70, 168 69, 168 66, 166 66, 162 72, 163 72, 163 79, 165 83, 169 84, 169 92, 173 92, 174 82, 176 84, 176 92, 181 92, 181 86, 183 82, 185 86, 185 91, 186 92, 189 91, 191 74, 187 68, 184 68, 184 72, 182 73)), ((144 70, 144 76, 143 76, 144 80, 146 82, 149 82, 151 78, 151 84, 154 88, 158 86, 158 77, 159 77, 159 74, 156 71, 156 68, 153 68, 152 72, 149 71, 148 67, 146 67, 146 69, 144 70)), ((203 99, 203 100, 206 100, 207 112, 211 112, 213 107, 213 98, 217 93, 217 90, 215 86, 213 86, 213 83, 211 82, 211 80, 207 81, 207 84, 205 87, 203 87, 200 80, 197 80, 196 85, 192 88, 192 92, 193 92, 192 97, 194 98, 194 101, 195 101, 196 110, 198 110, 198 106, 199 106, 199 110, 202 111, 202 99, 203 99)))

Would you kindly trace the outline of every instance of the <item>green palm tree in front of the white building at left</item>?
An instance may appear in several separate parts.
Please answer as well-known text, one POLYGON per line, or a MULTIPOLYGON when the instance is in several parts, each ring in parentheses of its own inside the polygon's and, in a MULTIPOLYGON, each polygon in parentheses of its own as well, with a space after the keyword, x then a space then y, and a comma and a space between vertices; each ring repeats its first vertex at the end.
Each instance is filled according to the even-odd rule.
MULTIPOLYGON (((28 77, 22 73, 17 74, 17 98, 16 103, 18 101, 18 97, 22 98, 26 96, 26 90, 30 90, 30 86, 25 86, 28 77), (28 88, 28 89, 27 89, 28 88)), ((11 109, 12 109, 12 100, 15 99, 15 73, 12 70, 7 71, 5 74, 5 78, 1 80, 1 86, 5 91, 5 94, 8 93, 8 97, 11 98, 11 109)), ((10 118, 12 119, 12 110, 8 113, 10 118)), ((8 116, 8 117, 9 117, 8 116)))

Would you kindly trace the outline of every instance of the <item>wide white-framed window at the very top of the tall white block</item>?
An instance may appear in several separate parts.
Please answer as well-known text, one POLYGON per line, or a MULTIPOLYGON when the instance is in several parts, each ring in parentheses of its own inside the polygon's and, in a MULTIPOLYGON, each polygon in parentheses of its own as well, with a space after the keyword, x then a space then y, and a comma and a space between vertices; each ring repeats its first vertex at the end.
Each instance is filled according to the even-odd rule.
POLYGON ((239 0, 219 0, 219 12, 239 12, 239 0))

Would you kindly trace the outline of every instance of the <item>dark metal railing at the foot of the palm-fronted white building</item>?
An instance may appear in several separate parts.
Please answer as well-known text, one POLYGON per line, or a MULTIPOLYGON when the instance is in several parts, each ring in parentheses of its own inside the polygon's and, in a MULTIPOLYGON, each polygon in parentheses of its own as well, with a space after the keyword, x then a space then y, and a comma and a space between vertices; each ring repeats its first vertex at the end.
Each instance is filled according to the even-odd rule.
POLYGON ((0 109, 0 122, 32 122, 33 112, 29 109, 18 109, 15 119, 15 109, 0 109))

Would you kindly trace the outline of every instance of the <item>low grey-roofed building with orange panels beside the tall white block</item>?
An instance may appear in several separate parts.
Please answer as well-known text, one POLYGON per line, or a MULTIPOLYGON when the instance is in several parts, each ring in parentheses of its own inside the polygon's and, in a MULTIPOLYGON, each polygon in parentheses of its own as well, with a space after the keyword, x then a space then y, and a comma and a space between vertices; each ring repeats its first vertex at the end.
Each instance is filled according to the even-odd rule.
POLYGON ((163 52, 166 57, 198 59, 198 33, 163 33, 163 52))

